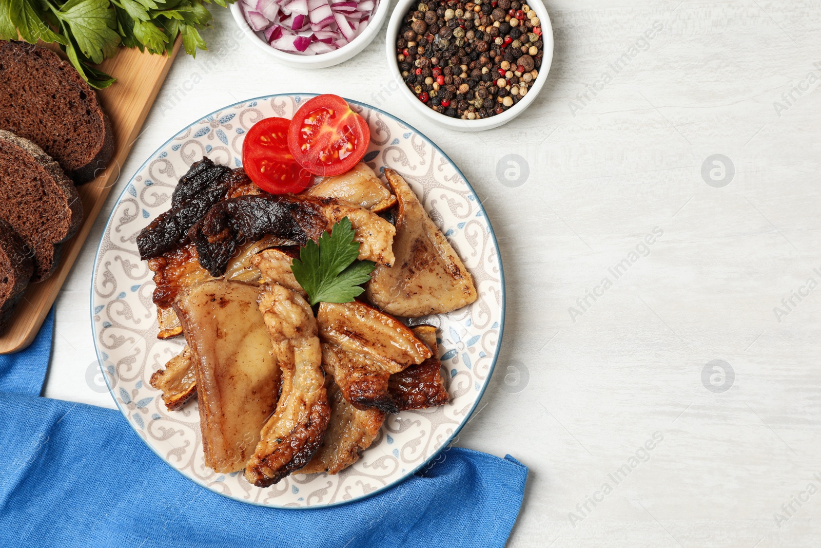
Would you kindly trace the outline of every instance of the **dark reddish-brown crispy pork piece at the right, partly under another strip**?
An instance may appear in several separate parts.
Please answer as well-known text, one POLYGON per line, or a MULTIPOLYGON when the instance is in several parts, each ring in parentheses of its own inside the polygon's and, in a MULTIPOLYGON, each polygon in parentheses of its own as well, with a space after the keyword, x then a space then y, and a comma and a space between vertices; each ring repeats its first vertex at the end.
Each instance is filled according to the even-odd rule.
POLYGON ((433 325, 417 325, 410 328, 422 342, 428 345, 433 356, 418 366, 409 366, 391 375, 388 394, 397 404, 399 411, 433 408, 450 401, 442 376, 442 362, 436 343, 436 328, 433 325))

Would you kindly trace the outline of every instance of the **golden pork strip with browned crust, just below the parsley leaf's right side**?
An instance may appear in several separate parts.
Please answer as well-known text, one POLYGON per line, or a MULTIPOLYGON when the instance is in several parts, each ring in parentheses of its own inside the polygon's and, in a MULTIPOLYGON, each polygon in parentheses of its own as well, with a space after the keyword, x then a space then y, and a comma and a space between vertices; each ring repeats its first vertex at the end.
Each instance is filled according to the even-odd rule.
POLYGON ((323 365, 357 409, 398 412, 390 376, 433 354, 399 320, 363 302, 319 303, 323 365))

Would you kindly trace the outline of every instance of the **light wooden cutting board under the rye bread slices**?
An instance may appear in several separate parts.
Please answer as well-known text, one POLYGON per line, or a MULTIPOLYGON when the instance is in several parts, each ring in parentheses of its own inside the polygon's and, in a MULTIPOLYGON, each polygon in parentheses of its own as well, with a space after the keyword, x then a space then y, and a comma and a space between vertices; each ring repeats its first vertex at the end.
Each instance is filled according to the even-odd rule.
POLYGON ((83 202, 80 230, 71 240, 62 244, 60 265, 54 274, 44 282, 32 283, 25 290, 11 324, 6 333, 0 336, 0 354, 16 352, 29 346, 40 325, 43 325, 43 320, 57 298, 57 292, 62 288, 68 271, 80 253, 80 247, 89 236, 108 192, 120 177, 120 168, 126 163, 131 145, 140 136, 145 117, 177 56, 180 44, 181 40, 177 39, 171 55, 152 55, 148 52, 140 53, 139 49, 120 48, 116 57, 106 59, 99 66, 101 70, 117 78, 108 88, 98 92, 103 110, 111 119, 114 130, 114 155, 108 167, 94 181, 77 187, 83 202))

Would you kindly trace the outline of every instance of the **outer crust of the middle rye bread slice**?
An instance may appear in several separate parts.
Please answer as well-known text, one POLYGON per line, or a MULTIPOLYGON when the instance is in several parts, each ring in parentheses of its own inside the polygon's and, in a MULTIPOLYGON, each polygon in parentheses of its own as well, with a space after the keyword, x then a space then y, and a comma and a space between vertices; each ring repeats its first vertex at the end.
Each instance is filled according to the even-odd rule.
MULTIPOLYGON (((63 173, 60 165, 55 162, 43 149, 35 145, 33 142, 22 137, 16 136, 11 131, 0 130, 0 140, 5 141, 11 146, 20 150, 21 155, 28 155, 31 160, 41 168, 48 177, 53 179, 57 192, 62 196, 64 201, 64 211, 68 214, 67 228, 59 230, 48 239, 46 245, 52 246, 52 250, 38 249, 34 246, 34 275, 31 277, 31 282, 41 282, 53 274, 60 262, 60 246, 58 244, 65 242, 70 237, 74 236, 77 229, 80 228, 80 223, 83 220, 83 204, 80 201, 80 195, 71 180, 63 173), (51 263, 48 264, 46 260, 48 255, 51 255, 51 263)), ((12 225, 13 226, 13 225, 12 225)), ((56 228, 56 227, 55 227, 56 228)), ((21 232, 18 228, 16 230, 21 232)), ((21 234, 25 242, 25 234, 21 234)), ((30 244, 30 242, 26 242, 30 244)))

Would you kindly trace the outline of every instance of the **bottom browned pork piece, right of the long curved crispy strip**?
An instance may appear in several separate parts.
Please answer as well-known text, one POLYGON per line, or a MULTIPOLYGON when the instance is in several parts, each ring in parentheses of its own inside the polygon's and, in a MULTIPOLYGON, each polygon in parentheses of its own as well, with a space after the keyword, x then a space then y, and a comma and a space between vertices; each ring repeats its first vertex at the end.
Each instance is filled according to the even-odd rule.
POLYGON ((314 458, 300 469, 301 474, 342 472, 359 460, 360 453, 374 443, 385 421, 385 413, 378 409, 360 411, 348 403, 333 381, 333 375, 326 375, 325 387, 331 404, 328 430, 314 458))

